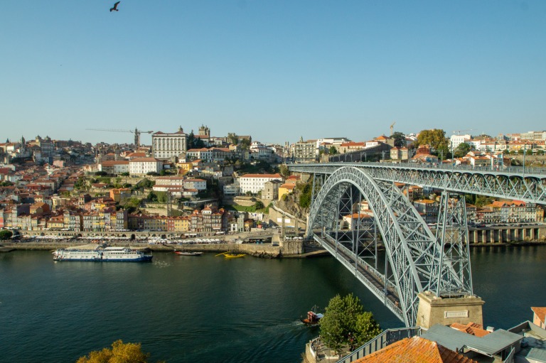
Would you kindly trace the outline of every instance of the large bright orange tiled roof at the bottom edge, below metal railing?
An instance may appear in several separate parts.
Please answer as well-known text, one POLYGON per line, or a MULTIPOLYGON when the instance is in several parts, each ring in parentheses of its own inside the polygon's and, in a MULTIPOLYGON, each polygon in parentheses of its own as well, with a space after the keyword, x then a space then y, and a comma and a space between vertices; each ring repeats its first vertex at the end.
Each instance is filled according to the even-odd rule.
POLYGON ((478 363, 422 337, 405 338, 355 363, 478 363))

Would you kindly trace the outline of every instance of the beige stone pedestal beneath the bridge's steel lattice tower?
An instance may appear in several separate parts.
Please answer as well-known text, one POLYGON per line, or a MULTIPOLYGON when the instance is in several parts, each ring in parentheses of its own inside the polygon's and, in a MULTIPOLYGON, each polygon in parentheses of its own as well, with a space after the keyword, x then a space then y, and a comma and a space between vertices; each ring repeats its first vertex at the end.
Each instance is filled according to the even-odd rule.
POLYGON ((432 325, 478 323, 483 325, 483 301, 478 296, 439 298, 430 291, 419 293, 417 325, 428 329, 432 325))

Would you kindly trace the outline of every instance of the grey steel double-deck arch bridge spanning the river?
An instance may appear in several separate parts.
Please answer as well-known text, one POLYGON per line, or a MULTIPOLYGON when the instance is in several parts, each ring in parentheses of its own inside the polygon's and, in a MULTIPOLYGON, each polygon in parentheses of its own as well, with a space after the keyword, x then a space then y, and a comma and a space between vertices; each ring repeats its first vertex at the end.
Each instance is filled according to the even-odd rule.
POLYGON ((292 164, 312 175, 307 237, 341 261, 407 327, 417 294, 472 296, 463 194, 546 204, 546 170, 391 163, 292 164), (443 190, 433 234, 395 183, 443 190), (378 261, 378 244, 385 261, 378 261))

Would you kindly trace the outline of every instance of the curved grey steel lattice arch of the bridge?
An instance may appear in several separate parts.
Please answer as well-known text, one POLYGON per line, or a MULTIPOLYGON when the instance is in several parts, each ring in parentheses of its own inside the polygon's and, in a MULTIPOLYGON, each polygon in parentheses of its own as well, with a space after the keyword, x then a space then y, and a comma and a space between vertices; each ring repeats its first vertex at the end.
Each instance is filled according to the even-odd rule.
POLYGON ((360 168, 338 168, 326 179, 309 212, 308 234, 333 230, 338 222, 337 203, 349 188, 368 201, 385 244, 387 259, 407 326, 415 323, 417 294, 432 290, 441 256, 434 234, 417 210, 392 182, 374 180, 360 168))

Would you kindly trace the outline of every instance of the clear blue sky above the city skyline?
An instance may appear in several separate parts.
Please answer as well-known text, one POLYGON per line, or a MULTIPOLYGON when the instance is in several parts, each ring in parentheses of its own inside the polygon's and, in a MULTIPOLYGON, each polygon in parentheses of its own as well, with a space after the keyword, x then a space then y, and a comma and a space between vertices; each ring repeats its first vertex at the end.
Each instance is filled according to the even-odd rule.
POLYGON ((1 142, 546 129, 543 0, 113 4, 0 1, 1 142))

